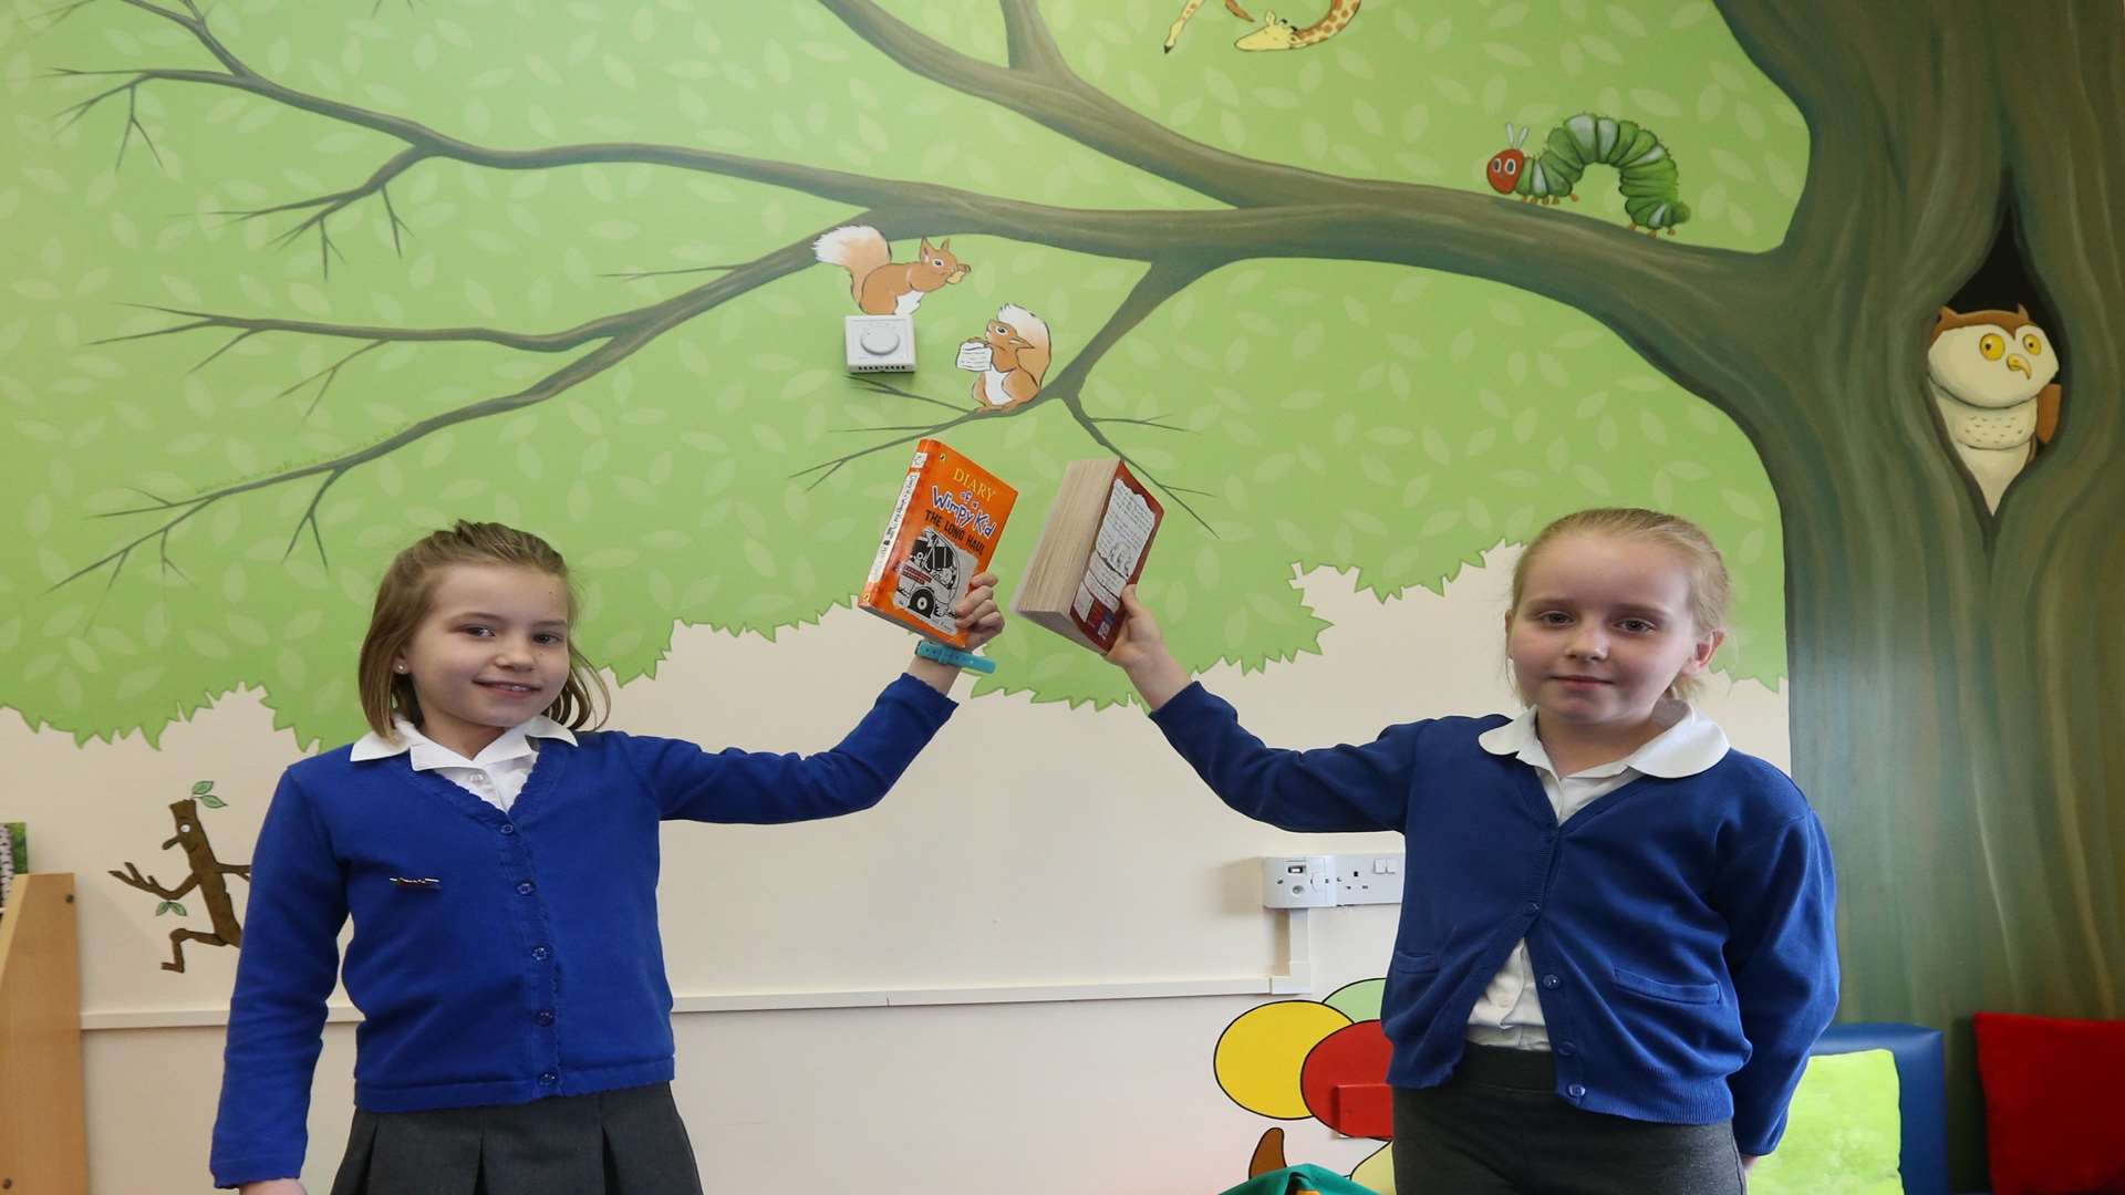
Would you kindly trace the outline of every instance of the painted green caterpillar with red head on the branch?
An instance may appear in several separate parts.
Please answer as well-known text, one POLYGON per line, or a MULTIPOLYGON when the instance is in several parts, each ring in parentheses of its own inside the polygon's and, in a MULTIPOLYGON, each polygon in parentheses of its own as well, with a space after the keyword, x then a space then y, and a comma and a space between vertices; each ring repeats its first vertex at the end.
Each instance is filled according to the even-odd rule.
POLYGON ((1483 170, 1500 196, 1524 196, 1538 204, 1570 196, 1577 202, 1572 187, 1579 185, 1579 176, 1594 162, 1602 162, 1615 166, 1632 230, 1643 228, 1658 236, 1666 228, 1668 236, 1674 236, 1674 225, 1689 219, 1689 204, 1674 193, 1674 157, 1649 128, 1579 113, 1549 130, 1543 149, 1532 157, 1519 151, 1528 140, 1526 128, 1509 123, 1504 138, 1507 147, 1483 170))

